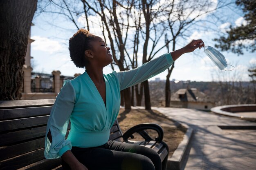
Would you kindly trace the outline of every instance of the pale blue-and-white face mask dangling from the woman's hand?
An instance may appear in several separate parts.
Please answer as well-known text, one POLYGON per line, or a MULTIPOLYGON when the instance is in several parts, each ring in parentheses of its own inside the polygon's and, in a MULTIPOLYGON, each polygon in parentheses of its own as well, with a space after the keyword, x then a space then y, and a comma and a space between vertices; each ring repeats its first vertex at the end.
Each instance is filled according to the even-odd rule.
MULTIPOLYGON (((211 47, 211 46, 206 46, 207 48, 205 49, 204 47, 204 53, 207 54, 207 56, 209 56, 209 58, 211 58, 211 60, 213 61, 213 63, 215 65, 217 65, 219 67, 220 70, 225 70, 225 68, 227 67, 227 61, 225 59, 225 57, 215 48, 211 47)), ((230 65, 232 66, 232 65, 230 65)), ((232 66, 233 69, 235 68, 234 66, 232 66)), ((225 70, 225 71, 232 71, 231 70, 225 70)))

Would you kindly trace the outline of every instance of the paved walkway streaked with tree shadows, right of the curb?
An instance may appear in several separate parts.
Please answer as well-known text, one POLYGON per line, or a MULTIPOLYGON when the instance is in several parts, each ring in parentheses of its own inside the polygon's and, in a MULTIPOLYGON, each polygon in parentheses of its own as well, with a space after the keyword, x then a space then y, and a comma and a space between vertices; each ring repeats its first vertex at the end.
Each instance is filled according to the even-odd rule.
POLYGON ((222 130, 249 121, 185 108, 152 107, 193 128, 185 170, 256 170, 256 130, 222 130))

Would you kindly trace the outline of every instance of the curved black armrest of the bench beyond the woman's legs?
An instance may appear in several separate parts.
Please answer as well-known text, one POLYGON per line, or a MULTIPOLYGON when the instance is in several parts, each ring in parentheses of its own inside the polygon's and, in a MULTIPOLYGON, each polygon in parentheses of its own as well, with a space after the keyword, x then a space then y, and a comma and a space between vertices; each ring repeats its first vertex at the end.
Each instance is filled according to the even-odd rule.
POLYGON ((136 132, 138 134, 140 134, 145 139, 145 141, 161 142, 163 140, 163 137, 164 137, 164 131, 161 128, 161 126, 159 126, 155 123, 142 123, 142 124, 133 126, 129 130, 127 130, 123 134, 124 141, 128 141, 129 137, 131 137, 133 139, 132 134, 134 134, 136 132), (155 130, 158 133, 158 137, 156 137, 155 139, 152 139, 145 130, 155 130))

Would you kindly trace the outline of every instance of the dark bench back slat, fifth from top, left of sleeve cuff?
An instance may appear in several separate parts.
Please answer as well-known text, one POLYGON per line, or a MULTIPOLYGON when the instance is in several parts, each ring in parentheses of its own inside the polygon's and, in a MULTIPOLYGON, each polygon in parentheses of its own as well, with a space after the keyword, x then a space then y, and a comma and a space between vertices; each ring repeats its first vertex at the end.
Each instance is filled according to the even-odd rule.
POLYGON ((45 147, 45 138, 0 148, 0 161, 45 147))

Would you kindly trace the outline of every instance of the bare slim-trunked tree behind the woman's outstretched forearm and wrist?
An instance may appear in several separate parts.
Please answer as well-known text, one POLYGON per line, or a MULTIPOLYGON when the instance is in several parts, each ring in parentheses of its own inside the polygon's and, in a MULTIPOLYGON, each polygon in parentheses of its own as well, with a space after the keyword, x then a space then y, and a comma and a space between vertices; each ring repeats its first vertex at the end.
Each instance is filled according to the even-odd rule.
MULTIPOLYGON (((191 36, 191 32, 198 31, 202 26, 195 27, 195 24, 201 22, 200 17, 207 13, 211 13, 218 8, 222 8, 228 4, 222 4, 222 0, 219 1, 219 7, 214 7, 212 1, 170 1, 168 4, 168 10, 166 10, 166 26, 168 34, 165 36, 166 43, 168 37, 172 40, 172 51, 175 51, 178 41, 182 38, 191 36), (194 26, 194 27, 193 27, 194 26)), ((169 51, 169 45, 166 46, 169 51)), ((168 74, 166 76, 165 86, 165 107, 170 107, 171 102, 171 88, 170 77, 174 69, 175 62, 170 68, 168 68, 168 74)))

